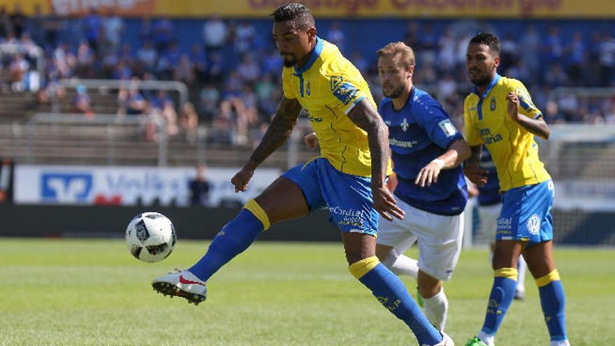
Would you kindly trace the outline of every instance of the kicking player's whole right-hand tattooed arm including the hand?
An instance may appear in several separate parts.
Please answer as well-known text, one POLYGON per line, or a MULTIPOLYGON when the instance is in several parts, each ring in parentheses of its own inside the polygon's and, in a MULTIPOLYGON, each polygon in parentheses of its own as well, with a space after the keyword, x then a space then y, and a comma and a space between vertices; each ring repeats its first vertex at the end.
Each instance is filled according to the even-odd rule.
POLYGON ((393 194, 386 188, 386 168, 389 166, 389 129, 382 117, 363 99, 348 112, 348 117, 356 126, 368 133, 368 142, 372 157, 372 195, 374 208, 382 217, 393 220, 403 219, 404 212, 397 205, 393 194))

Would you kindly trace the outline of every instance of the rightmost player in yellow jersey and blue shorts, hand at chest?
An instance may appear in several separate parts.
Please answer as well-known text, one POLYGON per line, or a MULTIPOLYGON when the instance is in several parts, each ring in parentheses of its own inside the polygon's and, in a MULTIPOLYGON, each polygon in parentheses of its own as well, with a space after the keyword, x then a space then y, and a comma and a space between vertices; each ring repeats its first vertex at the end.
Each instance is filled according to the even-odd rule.
POLYGON ((495 333, 514 297, 519 254, 528 263, 540 291, 551 346, 570 345, 564 318, 564 289, 553 259, 551 206, 554 186, 538 158, 534 136, 548 139, 550 132, 528 90, 496 72, 500 42, 493 34, 478 34, 465 56, 475 91, 465 99, 465 140, 473 156, 465 162, 465 175, 477 185, 486 183, 479 168, 486 145, 498 172, 502 210, 493 252, 495 278, 484 324, 466 346, 494 345, 495 333))

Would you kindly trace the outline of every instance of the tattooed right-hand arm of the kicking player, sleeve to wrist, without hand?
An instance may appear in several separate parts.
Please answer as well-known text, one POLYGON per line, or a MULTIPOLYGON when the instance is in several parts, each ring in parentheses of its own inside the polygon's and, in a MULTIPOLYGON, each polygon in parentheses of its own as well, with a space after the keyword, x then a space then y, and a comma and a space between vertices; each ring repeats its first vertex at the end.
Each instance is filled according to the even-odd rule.
POLYGON ((386 168, 389 165, 389 128, 382 122, 382 117, 367 101, 354 106, 348 117, 356 126, 368 133, 368 142, 372 157, 372 187, 384 186, 386 168))

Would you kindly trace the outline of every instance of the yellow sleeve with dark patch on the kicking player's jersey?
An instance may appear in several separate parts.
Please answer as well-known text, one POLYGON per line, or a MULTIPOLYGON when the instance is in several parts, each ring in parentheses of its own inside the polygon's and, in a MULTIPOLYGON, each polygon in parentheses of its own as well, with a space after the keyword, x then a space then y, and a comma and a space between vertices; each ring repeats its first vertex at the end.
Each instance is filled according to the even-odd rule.
POLYGON ((331 71, 324 75, 324 78, 329 87, 326 92, 326 104, 341 110, 344 114, 348 114, 357 103, 368 97, 369 91, 361 87, 367 83, 363 81, 361 73, 354 66, 331 71))

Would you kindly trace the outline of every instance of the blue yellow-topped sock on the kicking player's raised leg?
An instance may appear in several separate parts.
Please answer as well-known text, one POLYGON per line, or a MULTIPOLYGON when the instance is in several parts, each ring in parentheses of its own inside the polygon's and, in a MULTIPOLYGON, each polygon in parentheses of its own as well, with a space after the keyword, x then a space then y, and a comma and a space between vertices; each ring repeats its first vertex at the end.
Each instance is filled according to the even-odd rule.
POLYGON ((218 232, 205 256, 188 271, 199 279, 207 281, 224 264, 246 250, 263 229, 268 228, 267 214, 256 201, 251 199, 239 215, 218 232))

